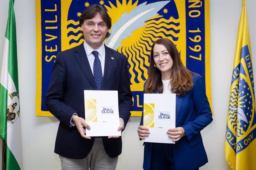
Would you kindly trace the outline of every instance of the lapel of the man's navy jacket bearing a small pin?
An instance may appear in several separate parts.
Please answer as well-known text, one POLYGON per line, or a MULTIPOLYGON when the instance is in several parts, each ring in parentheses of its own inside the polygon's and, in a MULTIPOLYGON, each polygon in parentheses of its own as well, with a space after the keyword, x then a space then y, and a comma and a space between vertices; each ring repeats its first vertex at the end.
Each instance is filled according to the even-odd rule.
POLYGON ((106 47, 105 45, 105 67, 104 67, 103 80, 101 84, 101 90, 106 89, 106 85, 108 83, 108 80, 111 76, 111 72, 113 69, 114 61, 115 61, 114 52, 110 50, 110 48, 106 47))

